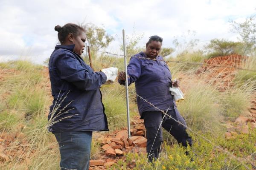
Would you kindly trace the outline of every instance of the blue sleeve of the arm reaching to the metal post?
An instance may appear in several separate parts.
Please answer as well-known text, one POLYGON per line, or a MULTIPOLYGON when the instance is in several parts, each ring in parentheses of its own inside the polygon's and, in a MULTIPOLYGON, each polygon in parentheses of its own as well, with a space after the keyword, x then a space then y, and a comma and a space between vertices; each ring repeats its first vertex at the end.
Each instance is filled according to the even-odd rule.
MULTIPOLYGON (((131 85, 131 83, 136 82, 136 80, 140 78, 141 65, 139 58, 131 57, 127 66, 127 74, 130 77, 128 78, 128 85, 131 85)), ((125 81, 119 81, 119 83, 125 85, 125 81)))

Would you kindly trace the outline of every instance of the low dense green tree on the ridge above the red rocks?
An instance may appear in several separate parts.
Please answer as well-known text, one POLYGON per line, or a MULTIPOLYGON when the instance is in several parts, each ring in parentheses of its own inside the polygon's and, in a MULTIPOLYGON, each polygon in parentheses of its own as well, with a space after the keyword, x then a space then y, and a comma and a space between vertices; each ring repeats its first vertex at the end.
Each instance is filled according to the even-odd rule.
POLYGON ((242 42, 233 42, 224 39, 213 39, 206 46, 208 50, 207 57, 218 57, 226 56, 230 54, 239 54, 240 47, 243 45, 242 42))

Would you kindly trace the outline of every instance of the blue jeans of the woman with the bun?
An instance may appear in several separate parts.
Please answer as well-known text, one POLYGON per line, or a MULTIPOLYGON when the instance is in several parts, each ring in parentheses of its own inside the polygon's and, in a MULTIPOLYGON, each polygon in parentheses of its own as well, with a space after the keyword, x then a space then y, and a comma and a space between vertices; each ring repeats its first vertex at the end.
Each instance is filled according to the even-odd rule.
POLYGON ((61 153, 61 170, 88 170, 92 132, 53 133, 61 153))

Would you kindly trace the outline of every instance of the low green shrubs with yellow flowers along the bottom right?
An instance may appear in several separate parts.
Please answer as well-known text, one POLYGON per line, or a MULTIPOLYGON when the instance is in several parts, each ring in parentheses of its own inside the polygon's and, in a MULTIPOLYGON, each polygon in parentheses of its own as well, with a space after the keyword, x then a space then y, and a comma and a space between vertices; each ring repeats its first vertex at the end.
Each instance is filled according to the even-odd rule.
MULTIPOLYGON (((250 134, 237 135, 235 139, 229 140, 224 139, 222 136, 211 136, 211 134, 204 133, 204 137, 211 139, 215 146, 193 134, 194 146, 187 148, 188 156, 185 154, 186 150, 180 145, 169 146, 164 143, 160 158, 157 161, 148 163, 145 154, 128 153, 126 162, 118 161, 115 166, 111 167, 111 170, 122 170, 122 167, 130 167, 131 165, 133 165, 133 170, 247 170, 240 161, 216 146, 222 149, 226 148, 237 158, 244 160, 243 164, 252 169, 255 160, 253 158, 245 158, 256 152, 256 148, 253 146, 256 140, 256 130, 251 131, 250 134), (191 162, 191 158, 194 161, 191 162), (136 160, 135 166, 133 160, 136 160)), ((126 168, 123 169, 125 170, 126 168)))

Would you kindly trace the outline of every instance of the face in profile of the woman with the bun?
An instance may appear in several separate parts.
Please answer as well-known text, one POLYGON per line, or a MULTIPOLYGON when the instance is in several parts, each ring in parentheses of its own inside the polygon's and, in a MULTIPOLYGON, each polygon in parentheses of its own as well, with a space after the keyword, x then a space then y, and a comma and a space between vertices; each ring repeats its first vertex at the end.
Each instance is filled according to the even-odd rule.
POLYGON ((79 56, 84 52, 85 40, 86 35, 84 31, 81 31, 81 34, 73 39, 73 43, 75 44, 73 51, 79 56))

